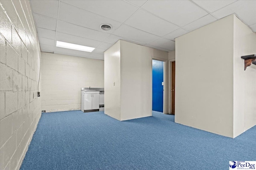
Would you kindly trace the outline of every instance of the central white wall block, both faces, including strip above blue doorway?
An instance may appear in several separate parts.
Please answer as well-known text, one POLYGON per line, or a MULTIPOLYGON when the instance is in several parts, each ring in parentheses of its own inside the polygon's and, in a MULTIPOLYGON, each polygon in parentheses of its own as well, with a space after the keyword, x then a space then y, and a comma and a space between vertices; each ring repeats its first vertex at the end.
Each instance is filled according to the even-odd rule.
POLYGON ((151 116, 152 59, 168 63, 168 53, 119 40, 104 58, 105 113, 121 121, 151 116))

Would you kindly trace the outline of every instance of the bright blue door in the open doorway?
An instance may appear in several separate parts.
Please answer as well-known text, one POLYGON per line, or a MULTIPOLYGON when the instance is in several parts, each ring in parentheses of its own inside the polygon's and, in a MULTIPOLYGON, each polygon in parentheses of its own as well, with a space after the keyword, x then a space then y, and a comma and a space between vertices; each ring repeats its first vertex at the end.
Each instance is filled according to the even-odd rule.
POLYGON ((164 62, 152 60, 152 110, 163 112, 164 62))

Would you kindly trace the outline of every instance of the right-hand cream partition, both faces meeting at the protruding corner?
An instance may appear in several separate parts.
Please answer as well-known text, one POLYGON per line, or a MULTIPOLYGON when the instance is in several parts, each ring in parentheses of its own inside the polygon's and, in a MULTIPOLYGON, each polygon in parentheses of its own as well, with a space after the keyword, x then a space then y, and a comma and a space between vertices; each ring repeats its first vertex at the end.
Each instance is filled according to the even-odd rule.
POLYGON ((240 58, 255 41, 235 15, 176 38, 176 123, 232 138, 256 124, 256 68, 240 58))

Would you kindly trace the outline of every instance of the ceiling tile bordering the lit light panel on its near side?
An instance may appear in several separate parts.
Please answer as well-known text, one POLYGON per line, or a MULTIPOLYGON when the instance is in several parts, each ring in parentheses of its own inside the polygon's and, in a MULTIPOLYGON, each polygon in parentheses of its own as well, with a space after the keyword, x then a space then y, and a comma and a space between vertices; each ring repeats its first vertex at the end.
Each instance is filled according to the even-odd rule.
POLYGON ((56 40, 63 41, 66 43, 85 45, 85 46, 94 47, 94 48, 98 47, 98 45, 100 45, 100 43, 102 43, 101 41, 96 41, 93 39, 87 39, 87 38, 78 37, 75 35, 70 35, 70 34, 65 34, 65 33, 59 33, 59 32, 57 32, 56 40))

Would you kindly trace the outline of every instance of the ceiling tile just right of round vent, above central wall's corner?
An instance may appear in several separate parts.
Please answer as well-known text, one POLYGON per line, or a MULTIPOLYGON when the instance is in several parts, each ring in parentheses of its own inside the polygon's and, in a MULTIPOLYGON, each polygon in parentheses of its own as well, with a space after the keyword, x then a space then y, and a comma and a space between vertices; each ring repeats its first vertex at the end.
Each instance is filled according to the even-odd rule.
POLYGON ((114 35, 118 35, 120 37, 124 37, 127 39, 131 39, 133 41, 138 41, 142 43, 149 43, 151 41, 154 41, 155 39, 158 39, 159 37, 150 33, 146 33, 144 31, 141 31, 139 29, 130 27, 128 25, 122 25, 114 32, 114 35))

